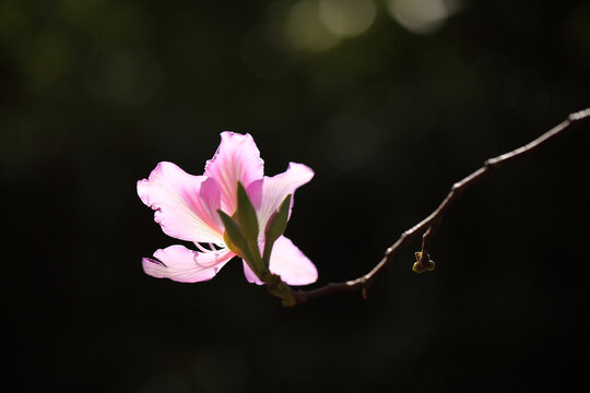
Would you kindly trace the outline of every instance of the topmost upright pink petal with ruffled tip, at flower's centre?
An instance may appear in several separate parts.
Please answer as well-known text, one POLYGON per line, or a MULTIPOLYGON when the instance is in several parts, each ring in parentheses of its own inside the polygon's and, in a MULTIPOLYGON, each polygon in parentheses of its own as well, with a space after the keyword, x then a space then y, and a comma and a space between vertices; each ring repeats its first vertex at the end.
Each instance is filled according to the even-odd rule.
POLYGON ((206 177, 215 179, 221 190, 222 210, 232 215, 236 211, 237 182, 248 187, 261 179, 264 162, 249 134, 222 132, 222 141, 212 159, 206 162, 206 177))

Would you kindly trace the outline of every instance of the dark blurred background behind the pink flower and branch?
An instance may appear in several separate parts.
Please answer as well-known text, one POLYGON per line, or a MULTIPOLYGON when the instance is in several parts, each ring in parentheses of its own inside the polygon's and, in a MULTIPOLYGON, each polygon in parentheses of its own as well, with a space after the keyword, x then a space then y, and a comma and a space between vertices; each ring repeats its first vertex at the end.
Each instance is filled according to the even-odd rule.
POLYGON ((199 284, 141 270, 178 241, 135 181, 202 174, 221 131, 251 133, 268 175, 315 169, 287 235, 318 286, 590 106, 588 1, 418 3, 1 1, 4 391, 583 385, 589 126, 467 192, 436 271, 411 271, 415 243, 366 301, 283 309, 238 261, 199 284))

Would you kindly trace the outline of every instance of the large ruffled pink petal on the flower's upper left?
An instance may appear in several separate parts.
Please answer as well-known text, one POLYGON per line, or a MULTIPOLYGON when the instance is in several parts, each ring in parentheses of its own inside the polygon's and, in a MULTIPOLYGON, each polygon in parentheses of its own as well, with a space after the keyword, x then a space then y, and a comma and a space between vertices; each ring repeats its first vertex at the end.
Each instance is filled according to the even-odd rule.
POLYGON ((138 194, 154 211, 168 236, 200 242, 223 242, 217 215, 220 191, 212 179, 192 176, 173 163, 160 163, 149 179, 138 181, 138 194))

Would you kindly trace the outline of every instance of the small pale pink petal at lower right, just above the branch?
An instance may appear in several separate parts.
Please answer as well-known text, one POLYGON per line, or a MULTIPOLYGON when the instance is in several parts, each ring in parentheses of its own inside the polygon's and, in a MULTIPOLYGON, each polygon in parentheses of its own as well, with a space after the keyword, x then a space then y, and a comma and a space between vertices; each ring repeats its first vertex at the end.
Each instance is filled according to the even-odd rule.
POLYGON ((269 270, 288 285, 307 285, 318 279, 316 265, 284 236, 272 247, 269 270))

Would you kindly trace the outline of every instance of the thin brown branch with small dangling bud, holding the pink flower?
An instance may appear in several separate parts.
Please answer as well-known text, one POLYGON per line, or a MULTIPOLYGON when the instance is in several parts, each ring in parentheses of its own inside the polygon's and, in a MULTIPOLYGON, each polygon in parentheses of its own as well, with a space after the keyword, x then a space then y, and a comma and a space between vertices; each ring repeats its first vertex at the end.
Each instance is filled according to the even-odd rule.
POLYGON ((430 240, 436 234, 436 230, 440 226, 445 213, 457 201, 457 199, 467 190, 477 184, 486 177, 492 169, 496 169, 506 166, 518 158, 529 155, 539 151, 547 142, 554 140, 556 136, 564 133, 564 131, 574 128, 574 126, 590 120, 590 108, 571 114, 566 120, 555 126, 550 131, 545 132, 538 139, 528 144, 518 147, 511 152, 499 155, 495 158, 489 158, 484 163, 484 166, 469 175, 464 179, 452 184, 450 192, 438 205, 438 207, 430 213, 426 218, 414 225, 412 228, 404 231, 401 237, 387 249, 385 257, 373 267, 367 274, 344 283, 331 283, 320 288, 310 290, 294 290, 292 294, 295 297, 295 303, 304 303, 320 296, 341 293, 341 291, 355 291, 359 290, 363 298, 367 297, 368 290, 377 279, 377 277, 384 272, 384 270, 396 259, 398 252, 411 240, 422 234, 422 250, 416 252, 416 263, 413 270, 416 273, 433 270, 434 262, 430 261, 428 255, 428 248, 430 240))

